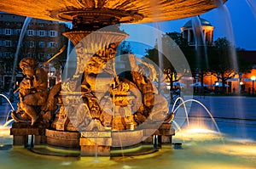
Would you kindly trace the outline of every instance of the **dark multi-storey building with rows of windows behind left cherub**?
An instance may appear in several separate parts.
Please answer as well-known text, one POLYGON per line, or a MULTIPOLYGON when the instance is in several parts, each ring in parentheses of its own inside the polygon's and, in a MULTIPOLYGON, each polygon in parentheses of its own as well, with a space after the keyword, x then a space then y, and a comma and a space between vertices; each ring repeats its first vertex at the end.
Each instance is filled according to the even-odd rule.
MULTIPOLYGON (((20 59, 31 57, 43 65, 58 53, 67 44, 67 37, 62 36, 64 31, 67 31, 64 23, 28 20, 24 16, 0 13, 0 88, 6 90, 22 80, 20 59), (26 29, 22 30, 26 24, 26 29)), ((58 58, 66 59, 66 51, 58 58)), ((49 70, 48 65, 46 70, 49 70)), ((58 68, 56 71, 59 71, 58 68)), ((50 75, 55 76, 52 73, 50 75)))

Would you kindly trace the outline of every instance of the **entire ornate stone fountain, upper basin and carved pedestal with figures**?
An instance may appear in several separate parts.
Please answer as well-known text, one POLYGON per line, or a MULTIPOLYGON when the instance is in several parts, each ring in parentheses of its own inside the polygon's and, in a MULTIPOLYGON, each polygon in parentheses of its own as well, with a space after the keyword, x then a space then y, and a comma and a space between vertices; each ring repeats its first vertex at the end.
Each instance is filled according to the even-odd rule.
MULTIPOLYGON (((114 69, 119 42, 128 37, 119 30, 119 24, 181 19, 216 8, 215 2, 1 2, 0 10, 4 12, 72 22, 73 29, 64 36, 73 42, 77 54, 77 69, 73 77, 53 87, 44 97, 44 103, 40 104, 31 104, 33 99, 26 99, 32 98, 29 94, 38 93, 32 89, 37 86, 38 67, 32 65, 34 75, 26 75, 24 86, 20 86, 19 109, 13 112, 15 123, 11 134, 14 135, 14 145, 26 145, 28 135, 34 135, 35 144, 80 149, 81 155, 95 155, 97 147, 97 155, 110 155, 113 148, 155 143, 156 135, 162 138, 158 141, 171 144, 174 130, 170 122, 173 116, 167 115, 167 101, 152 83, 156 76, 152 66, 129 54, 131 79, 118 76, 114 69), (137 62, 141 64, 137 65, 137 62), (142 65, 149 67, 151 76, 146 76, 142 65), (27 88, 32 93, 26 93, 27 88), (32 111, 34 115, 30 115, 32 111), (122 143, 119 138, 123 138, 122 143)), ((28 61, 28 65, 31 62, 28 61)), ((26 66, 20 64, 20 68, 26 71, 26 66)), ((40 92, 42 90, 46 89, 41 88, 40 92)))

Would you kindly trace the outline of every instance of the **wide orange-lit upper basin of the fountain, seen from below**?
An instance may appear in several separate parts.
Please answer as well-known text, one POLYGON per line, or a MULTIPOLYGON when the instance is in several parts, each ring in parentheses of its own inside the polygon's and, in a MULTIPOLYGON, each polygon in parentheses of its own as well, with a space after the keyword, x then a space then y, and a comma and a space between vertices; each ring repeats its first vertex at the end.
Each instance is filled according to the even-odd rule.
MULTIPOLYGON (((226 2, 227 0, 224 0, 226 2)), ((108 15, 120 23, 177 20, 217 8, 217 0, 4 0, 0 11, 42 20, 72 21, 78 15, 108 15)))

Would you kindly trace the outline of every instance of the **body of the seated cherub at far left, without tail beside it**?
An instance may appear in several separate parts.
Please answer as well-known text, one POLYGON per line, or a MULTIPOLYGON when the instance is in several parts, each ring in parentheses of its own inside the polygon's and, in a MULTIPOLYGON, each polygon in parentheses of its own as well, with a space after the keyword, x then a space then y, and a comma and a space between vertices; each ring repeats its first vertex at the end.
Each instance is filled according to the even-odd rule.
POLYGON ((20 69, 25 77, 20 82, 18 113, 21 113, 24 119, 30 117, 33 125, 39 117, 37 106, 44 105, 48 98, 47 74, 32 58, 21 59, 20 69))

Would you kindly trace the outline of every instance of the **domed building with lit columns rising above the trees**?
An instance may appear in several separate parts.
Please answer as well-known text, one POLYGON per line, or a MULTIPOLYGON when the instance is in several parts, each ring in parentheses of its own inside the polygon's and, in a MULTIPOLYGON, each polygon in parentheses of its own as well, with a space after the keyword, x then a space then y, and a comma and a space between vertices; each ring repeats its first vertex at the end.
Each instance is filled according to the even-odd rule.
POLYGON ((189 20, 187 23, 185 23, 183 27, 181 27, 183 38, 188 40, 189 46, 195 46, 195 42, 200 41, 199 39, 195 39, 195 37, 201 37, 201 36, 198 36, 201 34, 205 41, 205 44, 207 46, 212 46, 214 26, 212 26, 208 20, 202 19, 201 17, 198 17, 198 18, 201 23, 199 23, 199 20, 192 19, 192 20, 189 20), (195 33, 197 36, 195 36, 195 33))

